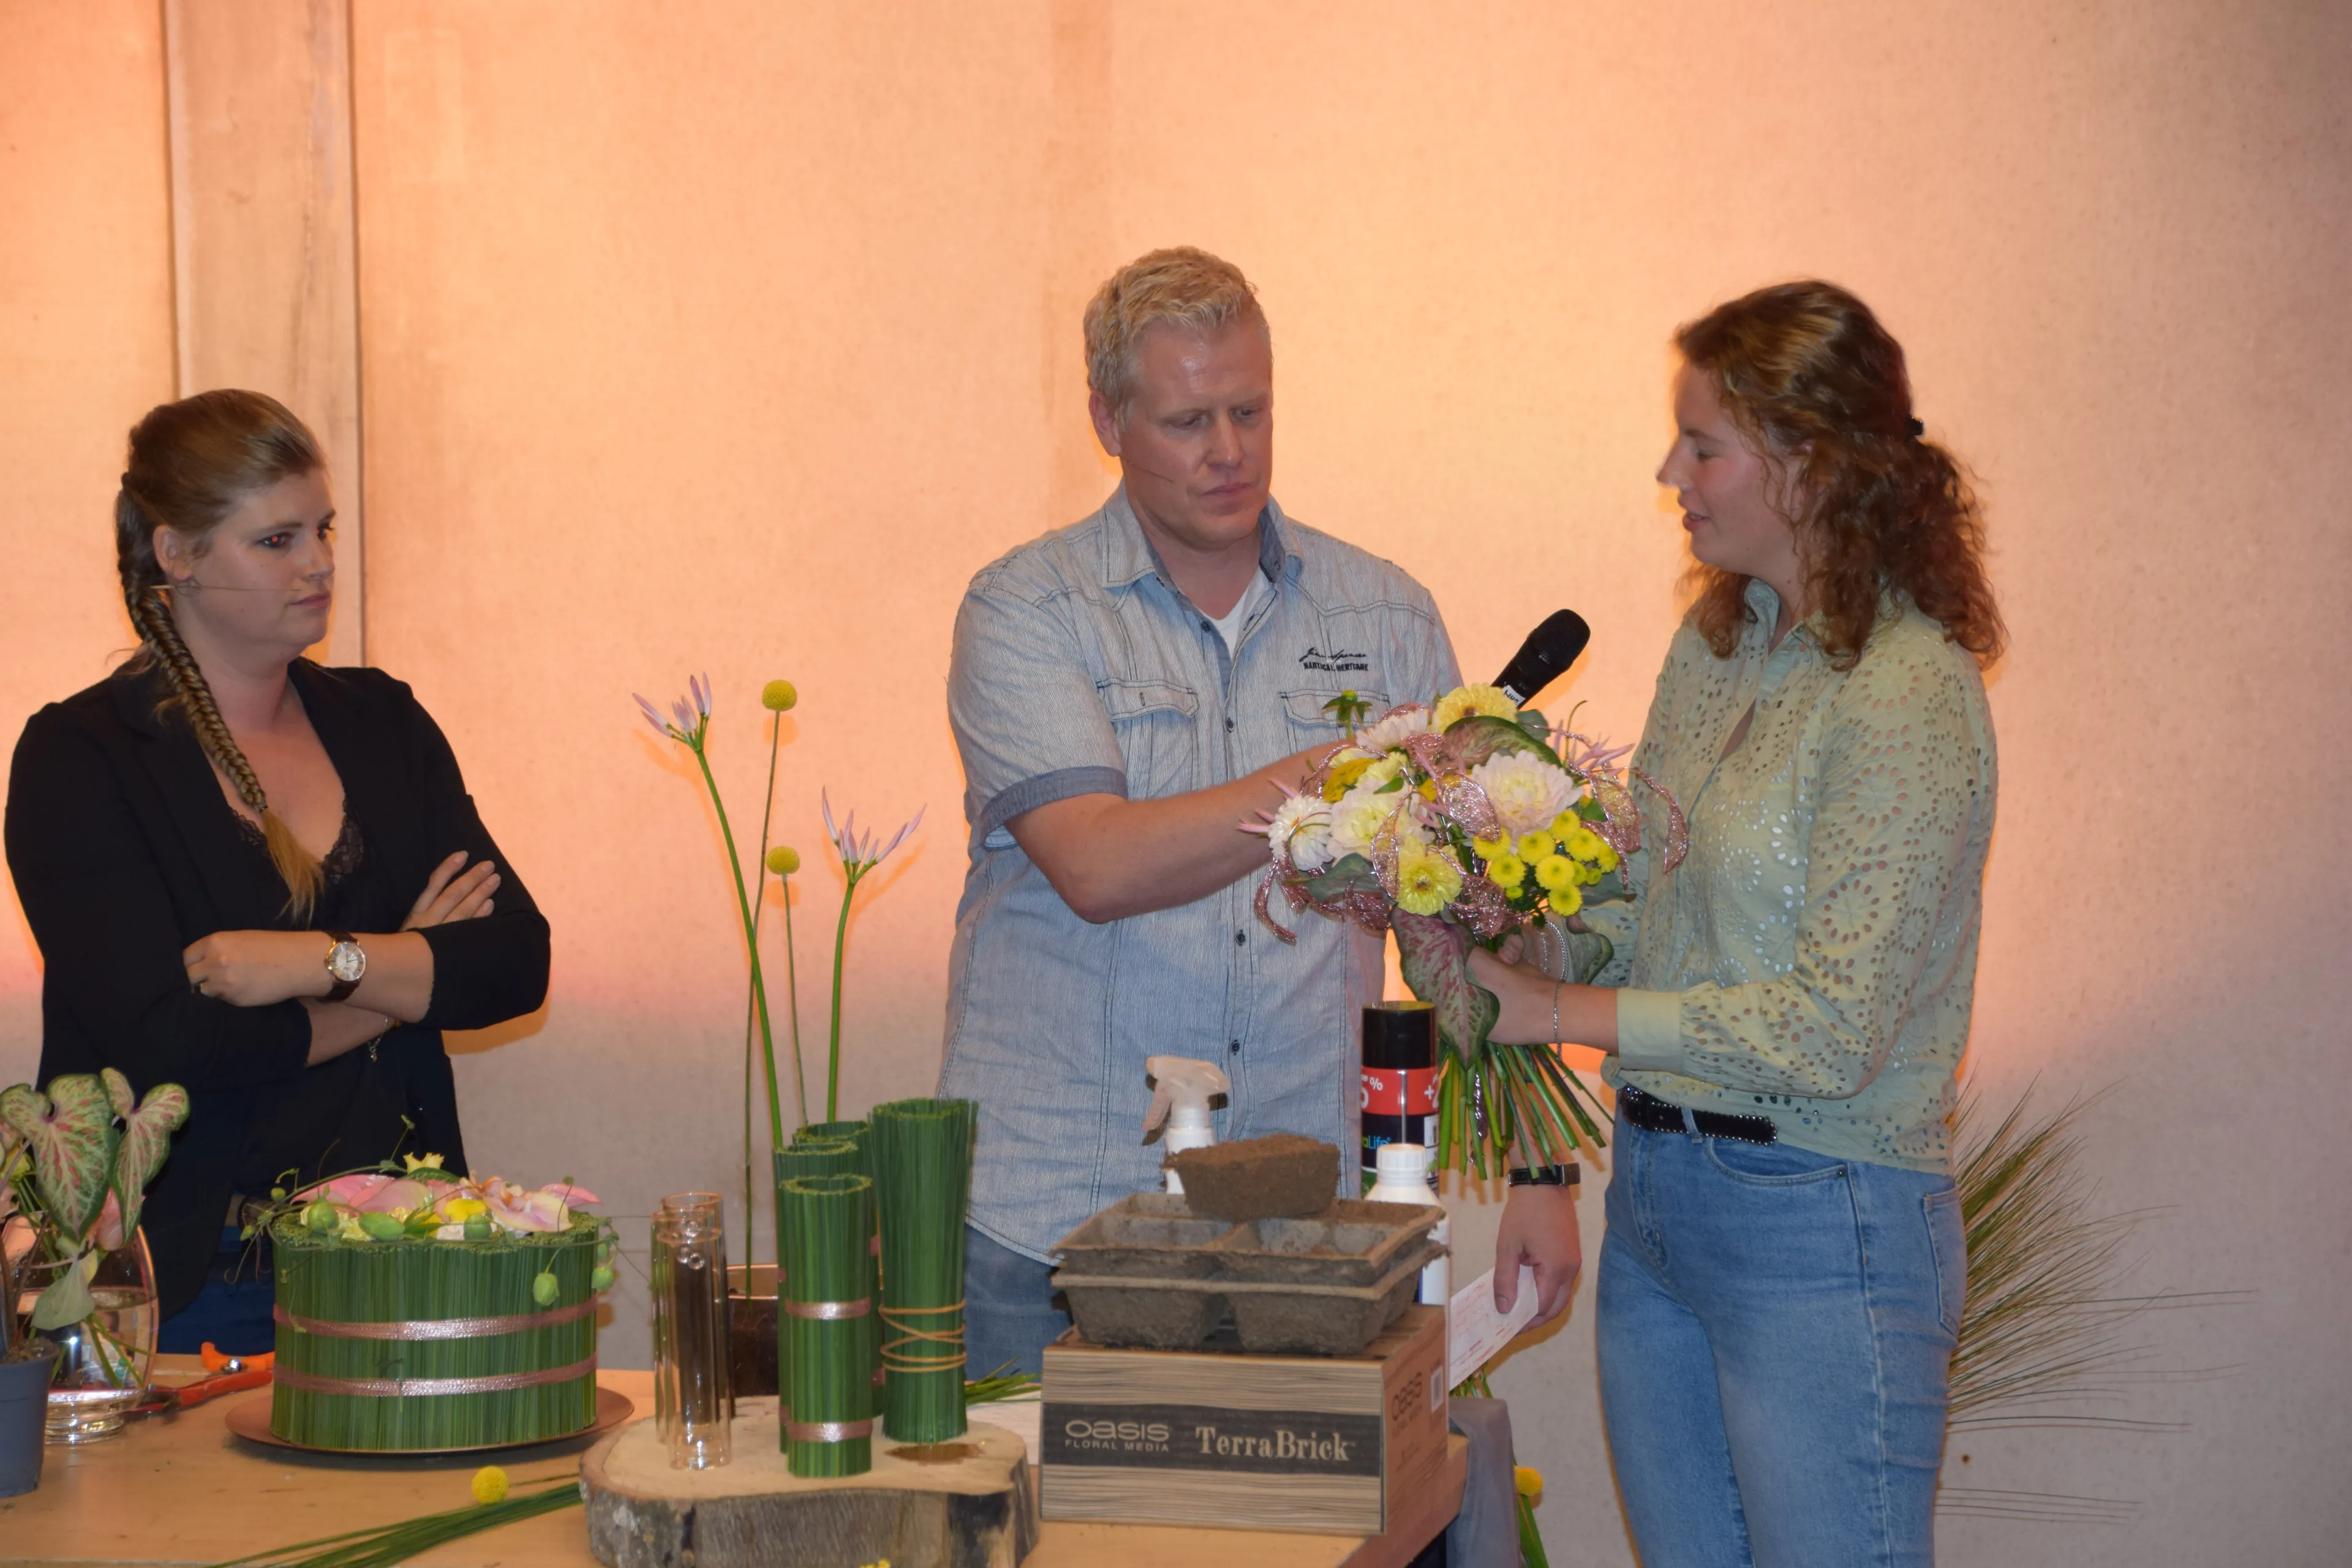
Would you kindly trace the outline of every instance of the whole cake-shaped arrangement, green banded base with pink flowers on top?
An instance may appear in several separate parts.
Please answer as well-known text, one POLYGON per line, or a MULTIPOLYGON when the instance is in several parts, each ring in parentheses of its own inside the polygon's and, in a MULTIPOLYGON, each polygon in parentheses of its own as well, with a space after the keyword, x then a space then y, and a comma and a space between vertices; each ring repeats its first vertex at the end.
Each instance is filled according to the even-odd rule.
POLYGON ((520 1190, 440 1157, 339 1175, 263 1220, 278 1272, 270 1432, 421 1453, 595 1425, 609 1222, 569 1180, 520 1190))

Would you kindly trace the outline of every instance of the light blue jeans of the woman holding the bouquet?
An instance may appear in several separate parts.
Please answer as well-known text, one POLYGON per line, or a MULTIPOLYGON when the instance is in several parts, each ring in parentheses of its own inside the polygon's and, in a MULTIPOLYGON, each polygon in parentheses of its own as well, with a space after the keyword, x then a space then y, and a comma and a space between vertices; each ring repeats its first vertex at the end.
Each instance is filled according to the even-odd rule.
POLYGON ((1644 1568, 1933 1563, 1947 1175, 1618 1121, 1595 1335, 1644 1568))

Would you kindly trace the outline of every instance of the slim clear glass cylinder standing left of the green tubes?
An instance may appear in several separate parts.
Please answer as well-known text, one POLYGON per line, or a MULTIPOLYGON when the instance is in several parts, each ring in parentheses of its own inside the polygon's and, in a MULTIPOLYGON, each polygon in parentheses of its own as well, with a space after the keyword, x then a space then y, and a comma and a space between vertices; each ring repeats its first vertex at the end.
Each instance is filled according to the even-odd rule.
POLYGON ((654 1422, 675 1469, 734 1458, 727 1375, 727 1227, 715 1192, 654 1211, 654 1422))

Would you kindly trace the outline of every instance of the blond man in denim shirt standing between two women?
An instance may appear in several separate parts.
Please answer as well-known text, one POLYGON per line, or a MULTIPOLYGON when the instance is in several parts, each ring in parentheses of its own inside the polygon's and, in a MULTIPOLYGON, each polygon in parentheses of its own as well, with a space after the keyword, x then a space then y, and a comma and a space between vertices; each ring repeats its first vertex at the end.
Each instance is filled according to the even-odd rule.
POLYGON ((978 1100, 967 1352, 1037 1371, 1068 1326, 1051 1248, 1160 1185, 1143 1063, 1232 1079, 1221 1138, 1348 1152, 1357 1011, 1381 943, 1251 914, 1240 830, 1374 712, 1458 684, 1428 590, 1270 496, 1272 341, 1242 273, 1197 249, 1120 268, 1087 306, 1087 411, 1120 489, 971 578, 948 715, 971 823, 941 1093, 978 1100))

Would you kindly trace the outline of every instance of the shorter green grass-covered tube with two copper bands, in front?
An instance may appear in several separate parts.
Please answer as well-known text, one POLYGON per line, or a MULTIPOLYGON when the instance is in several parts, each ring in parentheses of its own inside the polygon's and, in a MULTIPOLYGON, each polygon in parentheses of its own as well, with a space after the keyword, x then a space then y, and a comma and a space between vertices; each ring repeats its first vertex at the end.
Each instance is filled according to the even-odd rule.
POLYGON ((783 1208, 783 1281, 776 1321, 790 1396, 783 1458, 795 1476, 863 1476, 873 1469, 875 1387, 866 1371, 875 1185, 866 1175, 793 1175, 783 1208))

